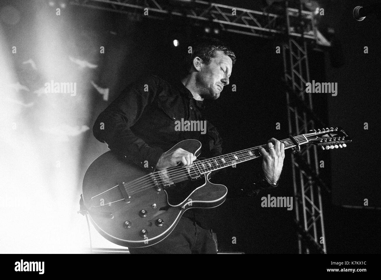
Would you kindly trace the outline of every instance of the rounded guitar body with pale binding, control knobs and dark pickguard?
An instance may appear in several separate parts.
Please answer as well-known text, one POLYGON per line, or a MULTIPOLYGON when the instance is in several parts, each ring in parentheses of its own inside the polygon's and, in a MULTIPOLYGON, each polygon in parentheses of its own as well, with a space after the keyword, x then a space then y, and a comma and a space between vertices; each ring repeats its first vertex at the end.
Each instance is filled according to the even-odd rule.
MULTIPOLYGON (((198 156, 201 143, 184 140, 170 150, 177 148, 198 156)), ((127 247, 154 245, 172 232, 186 210, 213 208, 226 199, 227 188, 209 182, 210 173, 193 181, 190 177, 173 180, 172 186, 161 184, 133 194, 128 194, 127 189, 123 194, 120 186, 147 178, 147 174, 146 169, 112 151, 96 158, 87 169, 83 200, 92 224, 110 242, 127 247)))

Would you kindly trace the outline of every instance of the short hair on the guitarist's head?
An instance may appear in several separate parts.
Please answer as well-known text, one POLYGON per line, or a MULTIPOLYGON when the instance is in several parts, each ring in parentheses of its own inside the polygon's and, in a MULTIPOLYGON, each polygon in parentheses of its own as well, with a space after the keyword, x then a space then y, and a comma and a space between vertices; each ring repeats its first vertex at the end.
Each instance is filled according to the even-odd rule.
POLYGON ((236 61, 235 54, 225 43, 215 38, 203 37, 192 45, 192 53, 187 56, 186 70, 190 71, 193 66, 193 59, 198 56, 203 63, 209 64, 210 60, 216 56, 217 51, 222 51, 232 59, 233 64, 236 61))

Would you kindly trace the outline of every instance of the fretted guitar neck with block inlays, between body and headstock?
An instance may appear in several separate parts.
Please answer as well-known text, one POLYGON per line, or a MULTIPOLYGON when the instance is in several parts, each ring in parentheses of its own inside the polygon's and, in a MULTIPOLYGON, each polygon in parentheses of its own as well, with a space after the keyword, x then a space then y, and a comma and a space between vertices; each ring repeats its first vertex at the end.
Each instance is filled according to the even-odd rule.
MULTIPOLYGON (((306 144, 309 141, 302 134, 300 136, 294 137, 295 141, 298 145, 306 144)), ((285 140, 280 141, 284 144, 285 149, 296 147, 296 144, 291 140, 291 138, 287 138, 285 140)), ((208 158, 206 160, 200 160, 195 162, 195 166, 198 169, 200 174, 205 174, 210 171, 222 169, 228 166, 235 165, 241 162, 247 162, 248 160, 253 160, 255 158, 261 157, 262 155, 259 153, 258 148, 263 147, 267 152, 269 151, 267 148, 267 144, 262 146, 256 146, 250 149, 240 150, 238 152, 220 155, 218 157, 208 158)))

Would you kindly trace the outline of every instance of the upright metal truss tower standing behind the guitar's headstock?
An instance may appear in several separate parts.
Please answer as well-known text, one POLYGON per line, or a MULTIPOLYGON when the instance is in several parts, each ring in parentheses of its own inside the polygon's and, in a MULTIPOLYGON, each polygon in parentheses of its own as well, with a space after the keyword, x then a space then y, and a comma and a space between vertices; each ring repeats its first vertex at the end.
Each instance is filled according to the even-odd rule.
MULTIPOLYGON (((288 15, 286 17, 290 30, 290 18, 288 15)), ((305 38, 298 42, 290 36, 288 42, 283 43, 285 81, 290 86, 286 93, 288 128, 293 136, 309 133, 309 130, 315 129, 315 123, 323 125, 319 119, 311 116, 312 95, 306 93, 306 83, 310 82, 307 54, 305 38), (295 99, 299 102, 295 102, 295 99)), ((291 160, 299 254, 326 253, 321 187, 328 188, 319 179, 316 146, 304 145, 298 154, 291 154, 291 160)))

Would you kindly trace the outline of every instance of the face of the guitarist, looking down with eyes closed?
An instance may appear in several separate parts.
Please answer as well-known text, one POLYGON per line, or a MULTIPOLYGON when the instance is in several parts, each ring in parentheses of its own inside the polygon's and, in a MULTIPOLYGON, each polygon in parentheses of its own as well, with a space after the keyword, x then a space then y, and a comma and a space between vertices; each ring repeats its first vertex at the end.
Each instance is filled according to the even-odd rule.
POLYGON ((217 51, 216 56, 206 65, 201 62, 201 70, 196 76, 199 95, 205 99, 217 99, 224 86, 229 85, 233 62, 223 51, 217 51))

